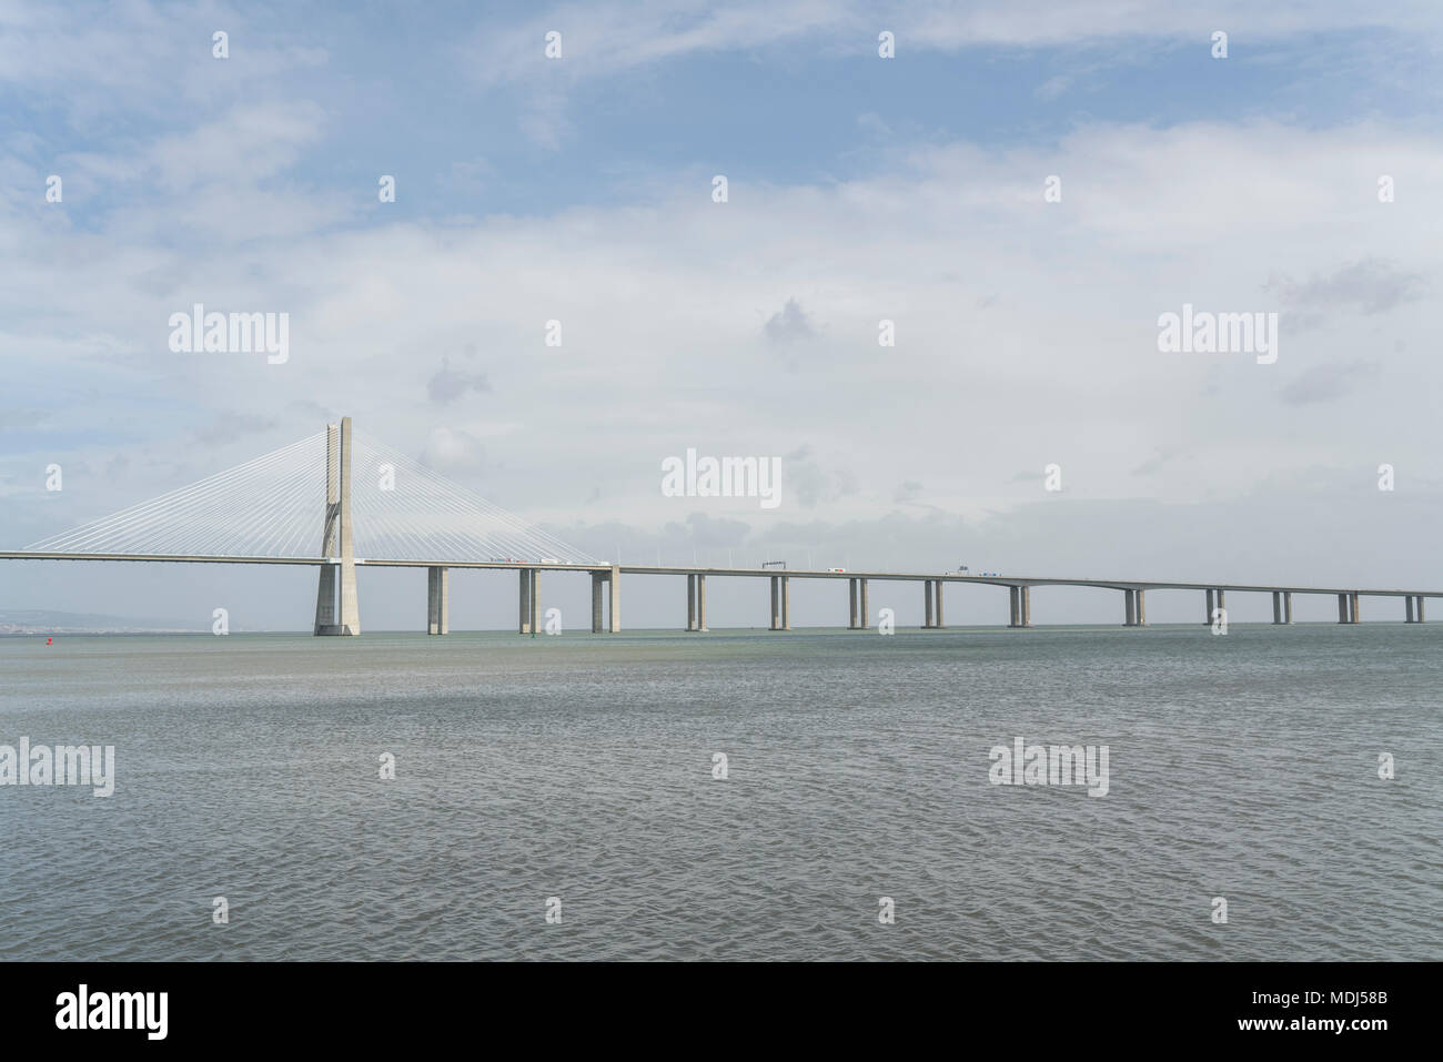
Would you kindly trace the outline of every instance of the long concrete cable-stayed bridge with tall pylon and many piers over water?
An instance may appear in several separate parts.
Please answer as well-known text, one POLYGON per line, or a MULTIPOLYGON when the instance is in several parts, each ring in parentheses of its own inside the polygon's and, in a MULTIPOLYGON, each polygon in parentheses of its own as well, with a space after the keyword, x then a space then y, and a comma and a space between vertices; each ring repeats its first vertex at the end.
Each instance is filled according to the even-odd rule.
POLYGON ((687 631, 707 629, 707 579, 771 580, 771 631, 791 629, 791 580, 846 580, 847 628, 869 628, 873 582, 922 584, 924 628, 945 626, 947 584, 1004 587, 1010 628, 1032 626, 1032 587, 1089 586, 1123 594, 1124 626, 1147 626, 1149 590, 1202 594, 1203 623, 1227 609, 1227 594, 1270 593, 1273 622, 1293 622, 1294 594, 1338 599, 1338 622, 1359 623, 1362 597, 1401 597, 1407 623, 1424 622, 1424 600, 1443 590, 1177 583, 1157 580, 1068 579, 970 574, 964 571, 844 571, 719 569, 700 566, 608 564, 560 538, 450 483, 431 469, 352 434, 351 417, 254 460, 149 502, 89 521, 0 560, 143 561, 185 564, 309 564, 319 569, 316 635, 361 633, 358 567, 427 570, 427 632, 449 632, 450 569, 504 569, 518 573, 519 633, 540 629, 541 571, 584 573, 592 579, 592 632, 620 631, 622 576, 685 576, 687 631), (352 478, 359 465, 364 475, 352 478), (315 537, 312 537, 315 535, 315 537), (317 541, 315 554, 299 553, 317 541), (356 543, 359 543, 359 550, 356 543), (356 553, 362 556, 356 556, 356 553))

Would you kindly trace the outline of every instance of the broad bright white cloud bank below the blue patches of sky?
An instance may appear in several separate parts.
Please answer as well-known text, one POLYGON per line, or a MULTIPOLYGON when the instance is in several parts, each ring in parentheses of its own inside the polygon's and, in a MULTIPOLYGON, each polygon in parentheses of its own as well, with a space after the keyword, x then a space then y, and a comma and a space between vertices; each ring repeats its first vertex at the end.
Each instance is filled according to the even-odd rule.
MULTIPOLYGON (((658 180, 651 198, 625 205, 455 227, 299 225, 255 241, 274 206, 258 196, 221 211, 227 224, 214 238, 180 245, 130 206, 74 232, 20 211, 0 228, 10 306, 0 346, 16 352, 6 369, 14 404, 123 395, 108 414, 98 410, 110 417, 105 434, 74 444, 124 446, 137 478, 156 482, 133 483, 110 506, 97 501, 98 511, 179 485, 146 462, 176 449, 175 408, 198 420, 227 410, 276 420, 237 460, 339 414, 397 449, 453 460, 433 430, 439 411, 465 410, 460 395, 476 392, 482 364, 466 359, 466 342, 506 352, 483 367, 506 394, 505 421, 447 418, 446 430, 485 440, 486 496, 537 522, 569 522, 596 488, 587 512, 597 521, 675 519, 657 492, 657 462, 687 446, 789 455, 810 443, 797 469, 784 468, 784 504, 827 505, 838 519, 890 509, 903 480, 968 518, 1006 511, 1036 495, 1013 473, 1056 455, 1068 455, 1069 499, 1131 496, 1139 463, 1169 446, 1189 447, 1189 475, 1153 476, 1150 493, 1231 496, 1263 473, 1258 452, 1286 473, 1356 446, 1307 418, 1280 437, 1280 401, 1306 407, 1326 392, 1322 379, 1300 378, 1280 395, 1283 372, 1367 351, 1421 385, 1392 397, 1391 410, 1356 410, 1356 437, 1430 416, 1429 388, 1443 369, 1429 352, 1443 335, 1421 299, 1390 310, 1385 342, 1378 315, 1341 316, 1306 346, 1290 348, 1284 333, 1271 375, 1250 361, 1156 349, 1163 309, 1254 306, 1267 277, 1260 263, 1287 277, 1330 277, 1336 263, 1359 258, 1388 261, 1398 276, 1436 274, 1443 254, 1427 225, 1398 225, 1387 255, 1371 253, 1382 208, 1365 192, 1380 157, 1407 166, 1410 202, 1443 198, 1443 149, 1413 130, 1205 121, 1094 123, 1032 147, 928 144, 864 177, 756 185, 746 209, 698 208, 693 185, 658 180), (1280 156, 1297 164, 1280 169, 1280 156), (1066 175, 1062 212, 1042 202, 1038 175, 1051 172, 1066 175), (1218 175, 1250 175, 1247 193, 1218 175), (170 280, 157 289, 156 276, 170 280), (758 313, 778 297, 782 306, 758 313), (290 361, 172 356, 167 315, 190 302, 289 309, 290 361), (547 354, 541 323, 551 317, 566 322, 566 348, 547 354), (896 348, 877 346, 882 317, 898 322, 896 348), (805 390, 768 385, 778 361, 823 346, 825 358, 805 365, 805 390), (431 364, 434 397, 427 387, 418 403, 382 401, 416 387, 421 351, 450 352, 440 374, 431 364)), ((182 482, 216 470, 182 463, 182 482)), ((0 472, 30 476, 13 452, 0 472)), ((755 512, 755 499, 707 511, 743 508, 755 512)))

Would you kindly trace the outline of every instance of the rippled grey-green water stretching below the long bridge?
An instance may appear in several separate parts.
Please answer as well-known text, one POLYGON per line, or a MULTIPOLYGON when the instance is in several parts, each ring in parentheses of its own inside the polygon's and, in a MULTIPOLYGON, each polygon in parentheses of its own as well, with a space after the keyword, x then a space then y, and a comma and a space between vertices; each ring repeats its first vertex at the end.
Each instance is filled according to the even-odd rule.
POLYGON ((118 776, 0 788, 0 960, 1440 960, 1440 651, 1388 623, 0 639, 0 743, 114 745, 118 776), (1110 792, 991 785, 1016 736, 1110 746, 1110 792))

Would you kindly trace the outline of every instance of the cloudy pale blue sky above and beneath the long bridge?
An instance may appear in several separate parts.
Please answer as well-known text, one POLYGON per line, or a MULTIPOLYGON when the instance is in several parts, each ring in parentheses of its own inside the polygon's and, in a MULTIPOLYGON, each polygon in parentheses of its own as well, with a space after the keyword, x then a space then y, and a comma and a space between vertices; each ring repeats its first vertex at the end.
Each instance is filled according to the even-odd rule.
MULTIPOLYGON (((0 0, 0 548, 351 416, 606 560, 1443 589, 1440 40, 1407 0, 0 0), (196 303, 287 315, 286 359, 172 349, 196 303), (1276 361, 1160 349, 1185 304, 1276 313, 1276 361), (779 504, 670 496, 688 449, 778 459, 779 504)), ((683 623, 681 580, 631 582, 623 623, 683 623)), ((576 626, 587 593, 543 586, 576 626)), ((364 571, 364 625, 424 594, 364 571)), ((309 569, 0 561, 0 609, 313 602, 309 569)), ((766 584, 710 606, 762 625, 766 584)), ((453 628, 514 618, 514 576, 453 582, 453 628)))

